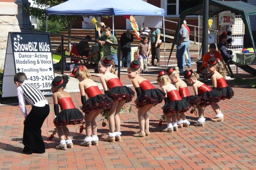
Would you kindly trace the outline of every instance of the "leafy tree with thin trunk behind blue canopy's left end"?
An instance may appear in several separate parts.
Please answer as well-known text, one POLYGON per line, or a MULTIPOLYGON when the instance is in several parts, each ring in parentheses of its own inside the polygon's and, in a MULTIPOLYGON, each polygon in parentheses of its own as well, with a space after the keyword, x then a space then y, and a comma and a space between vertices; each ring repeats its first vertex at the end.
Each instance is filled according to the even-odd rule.
MULTIPOLYGON (((46 8, 56 6, 60 3, 64 3, 66 0, 33 0, 33 3, 37 7, 27 6, 26 12, 34 17, 38 17, 39 20, 46 20, 46 8)), ((58 22, 61 26, 67 29, 68 35, 71 35, 71 28, 77 19, 81 18, 79 15, 49 15, 48 20, 52 22, 58 22)), ((68 39, 68 48, 70 48, 70 38, 68 39)))

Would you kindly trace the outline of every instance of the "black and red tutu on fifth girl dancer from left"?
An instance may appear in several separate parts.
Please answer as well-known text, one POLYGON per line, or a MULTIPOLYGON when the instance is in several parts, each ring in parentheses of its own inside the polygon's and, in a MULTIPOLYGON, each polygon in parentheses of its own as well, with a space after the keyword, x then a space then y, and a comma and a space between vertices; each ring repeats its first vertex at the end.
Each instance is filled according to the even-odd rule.
POLYGON ((185 100, 174 100, 166 102, 163 107, 163 113, 166 115, 174 113, 184 113, 189 110, 189 103, 185 100))

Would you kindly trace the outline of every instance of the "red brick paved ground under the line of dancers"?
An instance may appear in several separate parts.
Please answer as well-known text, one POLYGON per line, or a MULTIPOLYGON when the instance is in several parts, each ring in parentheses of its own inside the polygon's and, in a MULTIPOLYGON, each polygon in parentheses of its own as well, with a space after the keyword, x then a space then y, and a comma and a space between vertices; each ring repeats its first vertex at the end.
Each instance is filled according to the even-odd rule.
MULTIPOLYGON (((171 64, 174 64, 172 62, 171 64)), ((161 62, 163 64, 163 61, 161 62)), ((195 68, 195 65, 193 65, 195 68)), ((164 69, 164 68, 162 68, 164 69)), ((242 75, 250 77, 247 74, 242 75)), ((149 81, 156 81, 155 76, 147 76, 149 81)), ((93 77, 99 80, 98 77, 93 77)), ((121 75, 122 82, 131 84, 126 75, 121 75)), ((84 169, 175 169, 175 170, 219 170, 219 169, 255 169, 256 166, 256 89, 228 82, 235 96, 219 102, 225 115, 224 122, 210 122, 214 116, 211 108, 205 109, 207 123, 205 127, 195 127, 195 115, 186 113, 191 122, 187 128, 175 133, 163 133, 166 124, 158 127, 162 115, 163 103, 149 112, 151 135, 145 138, 133 137, 139 128, 137 110, 132 107, 130 114, 121 117, 122 142, 103 142, 108 127, 100 125, 98 117, 99 146, 81 147, 79 143, 84 133, 76 134, 78 125, 70 125, 74 149, 55 150, 59 143, 56 138, 47 140, 54 125, 52 99, 48 98, 51 112, 42 127, 42 136, 46 145, 44 154, 21 154, 23 149, 23 117, 17 105, 0 106, 0 170, 84 170, 84 169), (254 168, 253 168, 254 167, 254 168)), ((210 83, 209 83, 210 85, 210 83)), ((157 86, 157 85, 156 85, 157 86)), ((192 93, 192 87, 189 87, 192 93)), ((79 93, 71 94, 76 107, 81 105, 79 93)), ((132 104, 133 102, 131 102, 132 104)), ((27 107, 31 109, 31 107, 27 107)))

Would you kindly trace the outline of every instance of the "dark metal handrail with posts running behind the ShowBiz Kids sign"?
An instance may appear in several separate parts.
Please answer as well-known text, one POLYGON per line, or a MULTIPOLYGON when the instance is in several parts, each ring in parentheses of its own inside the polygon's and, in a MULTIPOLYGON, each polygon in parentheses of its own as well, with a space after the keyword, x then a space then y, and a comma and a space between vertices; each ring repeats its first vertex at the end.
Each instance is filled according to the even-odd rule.
MULTIPOLYGON (((65 60, 65 58, 78 59, 78 60, 98 63, 98 62, 96 62, 94 60, 91 60, 91 59, 84 59, 84 58, 77 58, 77 57, 68 56, 68 55, 65 55, 65 52, 64 52, 64 37, 70 38, 70 39, 72 38, 72 39, 77 39, 77 40, 83 40, 83 41, 86 41, 86 42, 94 42, 94 43, 99 44, 99 42, 97 42, 96 40, 87 40, 87 39, 74 37, 74 36, 68 36, 68 35, 63 35, 63 34, 56 34, 56 33, 50 33, 50 32, 44 32, 44 31, 38 31, 38 30, 26 29, 26 28, 20 28, 20 30, 23 31, 23 32, 45 33, 45 34, 49 34, 49 35, 52 35, 52 36, 61 37, 61 53, 52 52, 54 54, 60 54, 61 55, 61 74, 64 74, 64 60, 65 60)), ((119 44, 111 44, 111 43, 108 43, 108 42, 106 42, 105 44, 118 47, 118 57, 117 57, 117 60, 118 60, 118 77, 120 78, 120 45, 119 44)))

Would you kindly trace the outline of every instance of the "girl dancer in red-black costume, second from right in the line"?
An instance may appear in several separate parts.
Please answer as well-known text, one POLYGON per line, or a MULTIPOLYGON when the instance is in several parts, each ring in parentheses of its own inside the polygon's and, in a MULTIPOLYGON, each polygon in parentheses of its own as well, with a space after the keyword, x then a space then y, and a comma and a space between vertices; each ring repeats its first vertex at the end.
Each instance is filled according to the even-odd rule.
POLYGON ((217 115, 222 114, 220 107, 217 104, 217 102, 220 101, 220 96, 221 96, 219 91, 211 89, 208 85, 200 82, 198 80, 199 75, 194 70, 184 71, 184 78, 190 85, 193 85, 195 95, 198 95, 201 97, 201 103, 197 107, 199 119, 198 119, 198 122, 196 122, 194 124, 195 126, 204 126, 205 125, 204 108, 203 107, 211 105, 212 110, 217 115))

